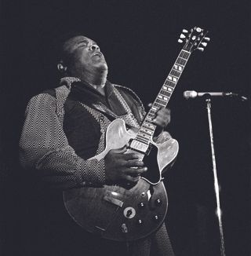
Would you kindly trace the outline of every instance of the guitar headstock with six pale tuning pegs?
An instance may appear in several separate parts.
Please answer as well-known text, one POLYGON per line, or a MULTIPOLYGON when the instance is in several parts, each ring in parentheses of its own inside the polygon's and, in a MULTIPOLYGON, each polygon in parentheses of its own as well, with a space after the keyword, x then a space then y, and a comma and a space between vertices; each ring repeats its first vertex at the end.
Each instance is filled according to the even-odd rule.
POLYGON ((178 42, 185 42, 183 49, 190 53, 195 49, 203 52, 207 43, 210 41, 210 38, 206 37, 208 31, 204 31, 204 29, 200 27, 191 28, 190 31, 184 29, 182 32, 178 42))

